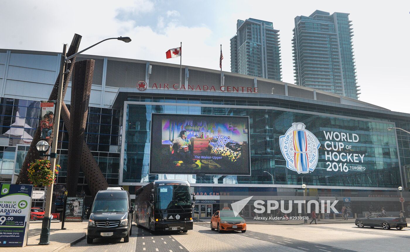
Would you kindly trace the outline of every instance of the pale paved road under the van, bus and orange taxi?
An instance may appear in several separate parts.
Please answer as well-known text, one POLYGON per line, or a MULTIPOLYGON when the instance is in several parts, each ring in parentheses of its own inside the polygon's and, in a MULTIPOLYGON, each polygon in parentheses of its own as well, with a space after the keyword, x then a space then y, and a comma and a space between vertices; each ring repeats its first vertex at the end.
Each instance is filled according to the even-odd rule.
MULTIPOLYGON (((70 250, 76 252, 275 252, 385 251, 410 246, 410 229, 357 228, 351 223, 326 225, 248 225, 246 233, 211 231, 209 222, 196 222, 194 230, 182 233, 150 234, 133 226, 129 243, 122 239, 85 239, 70 250)), ((67 250, 68 251, 68 250, 67 250)))

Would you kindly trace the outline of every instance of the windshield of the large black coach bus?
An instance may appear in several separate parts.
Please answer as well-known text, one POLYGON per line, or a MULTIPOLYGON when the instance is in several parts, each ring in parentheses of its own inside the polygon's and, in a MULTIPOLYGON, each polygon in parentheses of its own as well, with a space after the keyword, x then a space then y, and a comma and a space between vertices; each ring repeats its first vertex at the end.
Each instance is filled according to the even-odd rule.
POLYGON ((191 205, 189 186, 157 186, 155 195, 155 209, 175 209, 175 206, 191 205))

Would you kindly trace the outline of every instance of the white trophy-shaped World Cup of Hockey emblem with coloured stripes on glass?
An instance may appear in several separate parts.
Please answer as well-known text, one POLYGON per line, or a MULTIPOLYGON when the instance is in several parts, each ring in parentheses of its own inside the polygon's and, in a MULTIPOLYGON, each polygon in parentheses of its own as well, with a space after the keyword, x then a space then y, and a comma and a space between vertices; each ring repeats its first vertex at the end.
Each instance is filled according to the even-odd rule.
POLYGON ((319 158, 320 142, 312 132, 305 130, 305 124, 296 122, 292 125, 285 135, 279 137, 286 167, 298 174, 313 172, 319 158))

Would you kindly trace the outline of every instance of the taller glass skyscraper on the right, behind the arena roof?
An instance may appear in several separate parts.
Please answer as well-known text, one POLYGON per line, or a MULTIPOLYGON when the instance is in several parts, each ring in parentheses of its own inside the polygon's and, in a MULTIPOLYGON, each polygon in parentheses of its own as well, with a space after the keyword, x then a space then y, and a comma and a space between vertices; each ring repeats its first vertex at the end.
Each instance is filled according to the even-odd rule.
POLYGON ((295 83, 349 98, 360 94, 348 13, 297 16, 293 30, 295 83))

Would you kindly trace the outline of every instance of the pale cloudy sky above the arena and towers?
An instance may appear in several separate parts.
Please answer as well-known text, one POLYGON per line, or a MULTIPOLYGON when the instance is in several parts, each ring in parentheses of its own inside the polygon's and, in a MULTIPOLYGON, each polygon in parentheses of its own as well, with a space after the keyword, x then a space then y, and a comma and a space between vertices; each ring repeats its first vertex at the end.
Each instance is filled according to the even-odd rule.
POLYGON ((61 52, 75 33, 80 50, 128 36, 130 43, 109 40, 86 54, 179 64, 165 52, 182 42, 183 65, 219 70, 222 44, 230 71, 237 20, 257 18, 280 30, 282 81, 294 84, 294 18, 316 9, 350 14, 359 100, 410 113, 410 1, 0 0, 0 48, 61 52))

